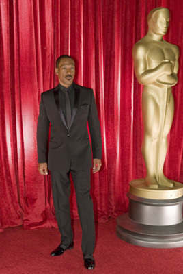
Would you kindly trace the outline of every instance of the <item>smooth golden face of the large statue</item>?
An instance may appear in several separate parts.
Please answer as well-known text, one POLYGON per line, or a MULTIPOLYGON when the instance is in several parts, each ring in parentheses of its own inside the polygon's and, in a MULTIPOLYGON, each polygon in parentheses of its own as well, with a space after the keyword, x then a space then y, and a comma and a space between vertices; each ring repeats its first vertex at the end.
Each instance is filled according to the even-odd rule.
POLYGON ((153 16, 151 25, 154 34, 166 34, 169 27, 169 10, 165 9, 157 11, 153 16))

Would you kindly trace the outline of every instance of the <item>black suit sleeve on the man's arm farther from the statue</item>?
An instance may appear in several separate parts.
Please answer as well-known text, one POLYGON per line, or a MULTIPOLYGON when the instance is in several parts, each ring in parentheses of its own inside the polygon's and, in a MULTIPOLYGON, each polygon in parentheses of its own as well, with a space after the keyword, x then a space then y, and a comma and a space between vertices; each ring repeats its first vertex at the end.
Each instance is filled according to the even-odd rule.
POLYGON ((37 127, 37 149, 38 149, 38 162, 47 162, 47 143, 48 143, 48 133, 49 133, 50 122, 44 108, 44 100, 41 95, 40 101, 40 114, 38 117, 38 127, 37 127))

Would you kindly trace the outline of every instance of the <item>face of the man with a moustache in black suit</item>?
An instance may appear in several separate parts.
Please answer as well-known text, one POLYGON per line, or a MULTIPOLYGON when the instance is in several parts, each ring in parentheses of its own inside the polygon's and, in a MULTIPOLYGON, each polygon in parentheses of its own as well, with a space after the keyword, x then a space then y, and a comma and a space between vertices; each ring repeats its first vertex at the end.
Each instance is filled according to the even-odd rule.
POLYGON ((59 84, 68 88, 74 80, 75 64, 71 58, 63 58, 59 62, 59 67, 55 69, 59 78, 59 84))

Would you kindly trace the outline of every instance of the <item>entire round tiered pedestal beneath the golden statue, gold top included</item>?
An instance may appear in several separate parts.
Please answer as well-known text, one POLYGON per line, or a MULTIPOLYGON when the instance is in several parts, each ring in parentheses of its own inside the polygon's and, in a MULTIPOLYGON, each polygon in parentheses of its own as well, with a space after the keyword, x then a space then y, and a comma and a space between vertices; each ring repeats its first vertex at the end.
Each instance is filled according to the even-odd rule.
POLYGON ((117 218, 117 236, 142 247, 182 247, 183 185, 175 182, 171 189, 146 188, 143 179, 130 182, 129 212, 117 218))

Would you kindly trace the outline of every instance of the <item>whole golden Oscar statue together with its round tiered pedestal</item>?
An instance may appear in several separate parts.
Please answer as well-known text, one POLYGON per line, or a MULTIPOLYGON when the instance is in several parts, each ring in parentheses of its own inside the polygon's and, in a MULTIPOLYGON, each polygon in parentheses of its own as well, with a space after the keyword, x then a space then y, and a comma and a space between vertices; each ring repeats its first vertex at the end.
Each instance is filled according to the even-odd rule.
POLYGON ((163 174, 167 135, 174 112, 172 87, 178 83, 178 47, 163 40, 169 10, 154 8, 148 32, 132 49, 135 75, 143 85, 143 144, 147 175, 130 182, 129 212, 117 218, 116 232, 126 242, 145 247, 182 247, 183 185, 163 174))

